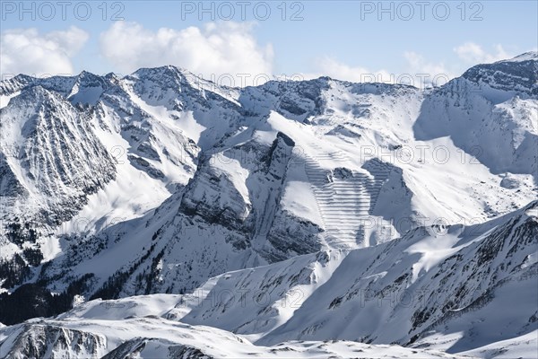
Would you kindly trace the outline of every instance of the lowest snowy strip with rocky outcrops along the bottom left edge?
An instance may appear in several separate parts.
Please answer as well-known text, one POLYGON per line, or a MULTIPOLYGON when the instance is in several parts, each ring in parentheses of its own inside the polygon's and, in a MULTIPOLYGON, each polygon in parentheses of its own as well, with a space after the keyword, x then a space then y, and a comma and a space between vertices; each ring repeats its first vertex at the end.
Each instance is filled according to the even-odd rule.
MULTIPOLYGON (((152 296, 146 297, 153 301, 152 296)), ((156 303, 156 302, 153 302, 156 303)), ((140 306, 140 302, 135 305, 140 306)), ((116 311, 117 312, 117 311, 116 311)), ((440 357, 463 358, 447 355, 436 350, 404 348, 402 346, 370 346, 356 342, 286 342, 277 346, 254 346, 246 339, 232 333, 202 326, 189 326, 156 315, 120 320, 92 320, 71 317, 66 320, 46 320, 40 324, 42 335, 36 337, 39 328, 19 325, 0 328, 5 340, 0 342, 0 355, 9 351, 8 358, 195 358, 213 359, 221 357, 243 358, 255 355, 263 358, 289 358, 293 356, 322 356, 350 358, 353 355, 368 357, 383 355, 387 358, 440 357), (123 324, 123 325, 122 325, 123 324), (75 328, 91 328, 91 336, 75 328), (151 335, 148 335, 151 333, 151 335), (36 342, 33 339, 51 340, 36 342), (29 346, 22 348, 19 337, 30 337, 29 346), (78 338, 86 340, 82 343, 78 338), (100 339, 96 339, 100 338, 100 339), (105 340, 103 343, 102 340, 105 340), (16 342, 16 343, 15 343, 16 342), (97 345, 98 350, 91 348, 97 345), (37 350, 36 350, 37 348, 37 350), (12 356, 14 355, 14 356, 12 356)))

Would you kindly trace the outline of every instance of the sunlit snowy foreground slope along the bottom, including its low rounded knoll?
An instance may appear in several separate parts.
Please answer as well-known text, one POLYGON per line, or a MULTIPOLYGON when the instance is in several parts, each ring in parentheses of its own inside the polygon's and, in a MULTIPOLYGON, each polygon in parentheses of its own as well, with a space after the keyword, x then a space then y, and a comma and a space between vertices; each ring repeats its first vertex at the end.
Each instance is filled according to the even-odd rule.
POLYGON ((349 341, 254 346, 244 337, 161 318, 178 296, 154 294, 83 303, 56 319, 0 328, 5 358, 460 358, 429 349, 373 346, 349 341))

